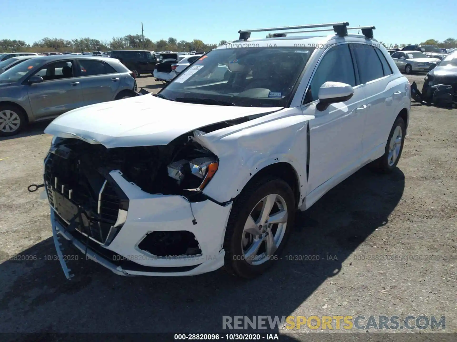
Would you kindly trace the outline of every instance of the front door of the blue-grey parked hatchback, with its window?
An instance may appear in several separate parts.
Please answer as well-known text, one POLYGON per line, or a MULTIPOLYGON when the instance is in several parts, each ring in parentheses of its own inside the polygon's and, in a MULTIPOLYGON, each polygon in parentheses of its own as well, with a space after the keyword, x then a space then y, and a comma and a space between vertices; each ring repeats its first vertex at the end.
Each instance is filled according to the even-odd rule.
POLYGON ((73 59, 49 63, 32 75, 39 75, 44 80, 27 86, 36 119, 56 116, 84 105, 81 78, 73 59))

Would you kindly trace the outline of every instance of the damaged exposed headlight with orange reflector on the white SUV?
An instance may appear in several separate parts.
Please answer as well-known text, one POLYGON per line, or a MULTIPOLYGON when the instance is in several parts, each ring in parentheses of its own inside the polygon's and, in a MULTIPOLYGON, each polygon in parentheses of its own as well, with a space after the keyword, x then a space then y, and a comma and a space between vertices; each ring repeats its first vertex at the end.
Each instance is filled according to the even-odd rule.
POLYGON ((168 176, 175 179, 178 185, 187 191, 200 192, 218 171, 219 162, 216 156, 181 159, 168 165, 168 176))

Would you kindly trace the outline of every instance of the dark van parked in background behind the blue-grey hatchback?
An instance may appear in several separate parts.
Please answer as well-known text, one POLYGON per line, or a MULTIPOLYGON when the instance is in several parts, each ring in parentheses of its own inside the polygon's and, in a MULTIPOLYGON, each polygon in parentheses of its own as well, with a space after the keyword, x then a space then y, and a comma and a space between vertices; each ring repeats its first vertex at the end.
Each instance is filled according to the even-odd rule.
POLYGON ((155 52, 145 50, 114 50, 111 52, 111 58, 117 58, 132 70, 137 78, 142 73, 152 74, 157 62, 155 52))

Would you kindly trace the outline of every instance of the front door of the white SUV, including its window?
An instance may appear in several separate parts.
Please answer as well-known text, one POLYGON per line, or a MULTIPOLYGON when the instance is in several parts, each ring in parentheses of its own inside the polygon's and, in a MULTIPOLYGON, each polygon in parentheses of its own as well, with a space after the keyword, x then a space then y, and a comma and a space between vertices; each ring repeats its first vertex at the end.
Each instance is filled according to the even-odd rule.
POLYGON ((309 120, 309 166, 307 197, 315 202, 352 169, 360 165, 361 142, 367 105, 361 86, 357 85, 348 44, 325 52, 311 79, 302 106, 309 120), (328 81, 350 84, 354 95, 345 102, 331 104, 324 111, 316 109, 320 86, 328 81))

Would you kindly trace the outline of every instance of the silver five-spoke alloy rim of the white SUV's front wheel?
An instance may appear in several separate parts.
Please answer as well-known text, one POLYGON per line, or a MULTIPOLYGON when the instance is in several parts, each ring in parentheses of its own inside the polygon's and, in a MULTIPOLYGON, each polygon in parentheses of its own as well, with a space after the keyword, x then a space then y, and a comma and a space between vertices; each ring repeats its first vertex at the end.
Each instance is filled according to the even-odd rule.
POLYGON ((244 260, 260 265, 273 259, 284 238, 287 226, 287 204, 278 194, 262 198, 250 212, 243 229, 241 249, 244 260))

